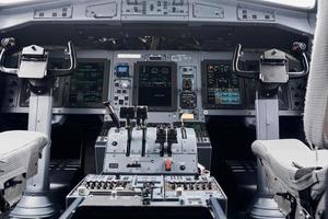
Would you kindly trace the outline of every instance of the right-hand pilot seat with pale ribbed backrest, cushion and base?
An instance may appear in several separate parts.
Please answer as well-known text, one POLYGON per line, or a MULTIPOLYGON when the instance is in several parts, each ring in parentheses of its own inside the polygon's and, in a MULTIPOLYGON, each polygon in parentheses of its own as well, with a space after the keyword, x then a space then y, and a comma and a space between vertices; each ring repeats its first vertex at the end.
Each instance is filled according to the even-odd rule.
POLYGON ((327 8, 328 1, 318 1, 318 23, 304 112, 308 145, 284 139, 258 140, 251 146, 265 168, 270 192, 276 194, 280 209, 291 218, 318 217, 320 209, 317 205, 324 199, 328 170, 327 8))

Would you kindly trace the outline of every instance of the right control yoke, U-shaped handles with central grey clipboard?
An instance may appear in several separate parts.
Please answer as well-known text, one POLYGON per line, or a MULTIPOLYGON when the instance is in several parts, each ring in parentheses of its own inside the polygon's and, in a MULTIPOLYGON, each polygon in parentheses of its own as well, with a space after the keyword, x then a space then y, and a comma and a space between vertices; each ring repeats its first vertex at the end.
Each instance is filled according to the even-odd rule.
POLYGON ((288 72, 285 69, 288 59, 285 53, 271 49, 267 50, 260 57, 260 70, 259 71, 246 71, 239 69, 239 59, 243 56, 242 53, 242 45, 238 44, 235 48, 234 56, 233 56, 233 71, 241 78, 248 78, 248 79, 260 79, 262 82, 268 83, 285 83, 288 79, 296 79, 303 78, 308 74, 309 66, 308 60, 305 54, 306 45, 304 43, 295 42, 291 49, 291 54, 297 58, 303 66, 303 70, 300 72, 288 72), (281 71, 277 71, 273 73, 280 73, 280 76, 272 76, 272 66, 281 66, 281 71), (269 71, 269 72, 267 72, 269 71), (271 74, 271 76, 270 76, 271 74), (269 77, 269 79, 268 79, 269 77))

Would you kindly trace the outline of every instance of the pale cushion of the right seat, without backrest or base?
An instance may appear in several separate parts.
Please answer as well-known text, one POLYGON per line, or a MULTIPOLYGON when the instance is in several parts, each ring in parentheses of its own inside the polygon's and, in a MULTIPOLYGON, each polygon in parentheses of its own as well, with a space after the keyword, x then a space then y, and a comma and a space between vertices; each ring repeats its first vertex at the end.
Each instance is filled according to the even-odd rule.
MULTIPOLYGON (((254 153, 261 160, 267 174, 273 174, 278 182, 292 193, 313 186, 314 196, 325 187, 328 169, 328 150, 311 150, 295 139, 257 140, 253 143, 254 153), (303 177, 295 177, 296 171, 308 168, 320 168, 303 177)), ((272 185, 272 182, 268 182, 272 185)))

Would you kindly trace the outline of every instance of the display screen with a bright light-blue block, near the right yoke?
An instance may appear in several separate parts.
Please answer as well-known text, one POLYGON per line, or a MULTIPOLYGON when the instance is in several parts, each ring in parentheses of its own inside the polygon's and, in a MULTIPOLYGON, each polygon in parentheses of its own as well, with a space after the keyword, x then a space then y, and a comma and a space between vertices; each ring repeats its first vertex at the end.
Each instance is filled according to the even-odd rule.
POLYGON ((206 70, 206 100, 207 106, 238 106, 243 103, 241 82, 232 72, 231 64, 226 61, 207 61, 206 70))

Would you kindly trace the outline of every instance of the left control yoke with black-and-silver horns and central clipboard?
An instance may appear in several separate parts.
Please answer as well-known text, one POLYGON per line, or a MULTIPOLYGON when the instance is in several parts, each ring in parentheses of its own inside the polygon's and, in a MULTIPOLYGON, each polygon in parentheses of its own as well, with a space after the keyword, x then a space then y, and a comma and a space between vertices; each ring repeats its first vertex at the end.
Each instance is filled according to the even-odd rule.
MULTIPOLYGON (((63 77, 69 76, 77 67, 77 54, 75 48, 72 42, 68 42, 68 47, 65 49, 65 54, 69 56, 70 58, 70 65, 68 68, 56 68, 56 69, 48 69, 47 68, 47 61, 48 61, 48 53, 55 49, 47 49, 45 50, 43 47, 31 45, 27 47, 24 47, 22 51, 20 53, 20 61, 19 61, 19 68, 7 68, 4 67, 4 58, 5 54, 12 49, 16 45, 16 42, 13 37, 3 38, 1 41, 1 47, 2 50, 0 53, 0 71, 7 74, 14 74, 19 76, 20 78, 30 78, 30 79, 43 79, 45 77, 63 77), (40 67, 39 72, 42 74, 21 74, 20 76, 20 68, 22 66, 26 67, 24 62, 33 62, 32 69, 38 69, 40 67), (37 66, 36 66, 37 65, 37 66), (45 68, 45 69, 43 69, 45 68)), ((26 70, 26 69, 24 69, 26 70)), ((23 71, 23 70, 22 70, 23 71)), ((27 68, 28 72, 28 68, 27 68)))

